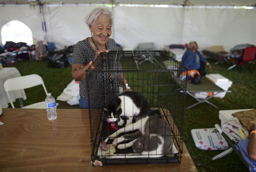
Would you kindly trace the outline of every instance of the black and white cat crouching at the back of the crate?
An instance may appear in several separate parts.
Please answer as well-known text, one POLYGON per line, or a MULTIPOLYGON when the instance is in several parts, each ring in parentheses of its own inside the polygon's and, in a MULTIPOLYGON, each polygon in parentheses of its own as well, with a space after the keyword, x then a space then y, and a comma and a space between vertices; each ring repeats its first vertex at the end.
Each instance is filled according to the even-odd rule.
POLYGON ((138 92, 127 91, 117 95, 110 100, 103 108, 103 113, 107 122, 114 122, 121 126, 126 118, 126 125, 132 123, 132 120, 138 121, 146 117, 150 112, 148 100, 138 92))

